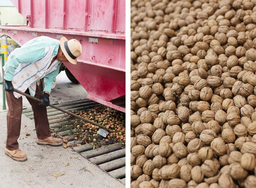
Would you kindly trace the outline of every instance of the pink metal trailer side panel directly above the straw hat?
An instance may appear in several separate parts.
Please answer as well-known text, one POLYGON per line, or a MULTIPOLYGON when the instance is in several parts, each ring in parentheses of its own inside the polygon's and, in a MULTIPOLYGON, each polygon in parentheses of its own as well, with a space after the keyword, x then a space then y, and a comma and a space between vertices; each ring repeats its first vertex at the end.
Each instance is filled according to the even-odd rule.
POLYGON ((68 0, 67 4, 67 29, 84 30, 86 1, 68 0), (77 14, 84 13, 84 14, 77 14))

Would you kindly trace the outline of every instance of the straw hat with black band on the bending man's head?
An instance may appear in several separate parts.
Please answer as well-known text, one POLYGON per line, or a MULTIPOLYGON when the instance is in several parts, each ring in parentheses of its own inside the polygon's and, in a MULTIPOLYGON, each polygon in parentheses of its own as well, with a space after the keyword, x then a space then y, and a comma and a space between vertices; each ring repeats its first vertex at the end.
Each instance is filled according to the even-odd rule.
POLYGON ((60 48, 65 57, 72 64, 76 64, 76 58, 82 54, 82 45, 76 39, 68 39, 65 36, 60 38, 60 48))

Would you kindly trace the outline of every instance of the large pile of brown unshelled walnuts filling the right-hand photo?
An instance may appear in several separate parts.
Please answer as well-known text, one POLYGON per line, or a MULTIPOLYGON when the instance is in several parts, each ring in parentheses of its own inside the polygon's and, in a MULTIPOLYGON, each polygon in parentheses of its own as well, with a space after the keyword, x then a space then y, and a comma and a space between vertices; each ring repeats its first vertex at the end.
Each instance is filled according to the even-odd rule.
POLYGON ((131 187, 256 187, 256 1, 131 1, 131 187))

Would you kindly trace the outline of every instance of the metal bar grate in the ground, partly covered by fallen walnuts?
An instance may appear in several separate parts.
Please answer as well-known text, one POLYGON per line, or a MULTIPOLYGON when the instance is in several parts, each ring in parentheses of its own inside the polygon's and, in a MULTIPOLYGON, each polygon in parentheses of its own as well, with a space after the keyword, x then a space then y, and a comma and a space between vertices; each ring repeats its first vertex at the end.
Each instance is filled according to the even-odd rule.
MULTIPOLYGON (((54 104, 57 107, 71 111, 89 111, 99 106, 100 104, 90 100, 78 100, 63 104, 54 104)), ((32 109, 23 110, 23 114, 31 120, 34 118, 32 109)), ((71 145, 80 144, 82 140, 75 140, 72 133, 75 131, 76 126, 69 121, 69 115, 56 109, 47 107, 47 116, 50 128, 62 138, 68 140, 67 143, 71 145)), ((122 148, 122 143, 114 143, 94 148, 92 144, 84 144, 73 147, 73 150, 90 160, 102 170, 106 171, 116 179, 119 179, 125 185, 125 148, 122 148)))

